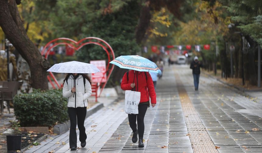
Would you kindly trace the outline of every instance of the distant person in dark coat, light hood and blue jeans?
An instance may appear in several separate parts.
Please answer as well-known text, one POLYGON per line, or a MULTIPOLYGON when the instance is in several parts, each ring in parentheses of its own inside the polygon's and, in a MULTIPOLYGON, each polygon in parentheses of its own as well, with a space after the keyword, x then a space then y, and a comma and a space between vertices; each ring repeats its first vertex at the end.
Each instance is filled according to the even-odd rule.
POLYGON ((194 61, 190 64, 190 69, 193 70, 194 86, 196 91, 198 90, 200 67, 203 67, 203 65, 198 61, 198 57, 195 56, 194 61))

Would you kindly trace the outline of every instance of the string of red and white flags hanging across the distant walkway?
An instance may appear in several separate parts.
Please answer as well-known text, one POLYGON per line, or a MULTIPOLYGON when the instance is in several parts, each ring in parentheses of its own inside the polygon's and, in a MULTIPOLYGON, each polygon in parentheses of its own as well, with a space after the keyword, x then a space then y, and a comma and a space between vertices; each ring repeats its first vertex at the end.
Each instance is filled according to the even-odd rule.
MULTIPOLYGON (((165 50, 169 50, 169 49, 182 50, 183 48, 185 48, 186 50, 191 50, 194 47, 196 51, 200 52, 202 46, 205 50, 210 49, 209 44, 204 44, 204 45, 167 45, 167 46, 160 46, 160 47, 151 46, 151 50, 154 53, 159 53, 159 52, 165 53, 165 50)), ((144 46, 143 50, 145 53, 147 53, 147 46, 144 46)))

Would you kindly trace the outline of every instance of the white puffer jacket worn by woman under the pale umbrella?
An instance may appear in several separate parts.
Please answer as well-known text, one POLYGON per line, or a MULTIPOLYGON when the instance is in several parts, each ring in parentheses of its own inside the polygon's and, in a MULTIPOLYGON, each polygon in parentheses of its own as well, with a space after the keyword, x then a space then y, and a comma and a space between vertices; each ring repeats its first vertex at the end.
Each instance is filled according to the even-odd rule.
POLYGON ((82 75, 79 75, 75 80, 73 75, 70 75, 67 82, 65 81, 63 87, 63 97, 68 98, 67 107, 87 107, 87 98, 91 96, 92 89, 89 81, 84 81, 82 75), (76 93, 72 93, 71 89, 74 87, 74 81, 76 83, 76 93))

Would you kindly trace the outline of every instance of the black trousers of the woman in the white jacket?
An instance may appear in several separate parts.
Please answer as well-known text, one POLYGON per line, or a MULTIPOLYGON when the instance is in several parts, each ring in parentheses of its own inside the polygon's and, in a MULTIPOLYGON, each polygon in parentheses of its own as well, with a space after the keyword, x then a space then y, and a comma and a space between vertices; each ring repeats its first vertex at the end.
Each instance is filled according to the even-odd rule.
POLYGON ((76 135, 76 121, 80 131, 79 140, 85 142, 87 139, 86 128, 84 122, 87 114, 87 107, 68 107, 68 114, 70 118, 70 133, 69 133, 69 145, 70 148, 77 147, 77 135, 76 135))

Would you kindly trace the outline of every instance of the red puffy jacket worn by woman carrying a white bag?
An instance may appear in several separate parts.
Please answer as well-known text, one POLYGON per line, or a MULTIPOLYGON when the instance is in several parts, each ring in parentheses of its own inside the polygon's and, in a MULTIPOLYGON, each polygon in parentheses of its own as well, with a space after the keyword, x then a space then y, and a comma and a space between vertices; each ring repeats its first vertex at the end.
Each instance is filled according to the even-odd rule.
POLYGON ((126 73, 124 74, 121 88, 122 90, 132 90, 131 83, 135 83, 134 91, 139 91, 141 93, 140 103, 149 101, 150 96, 151 104, 156 104, 157 100, 153 80, 148 72, 146 72, 146 75, 147 80, 144 72, 130 70, 128 73, 128 81, 126 73))

